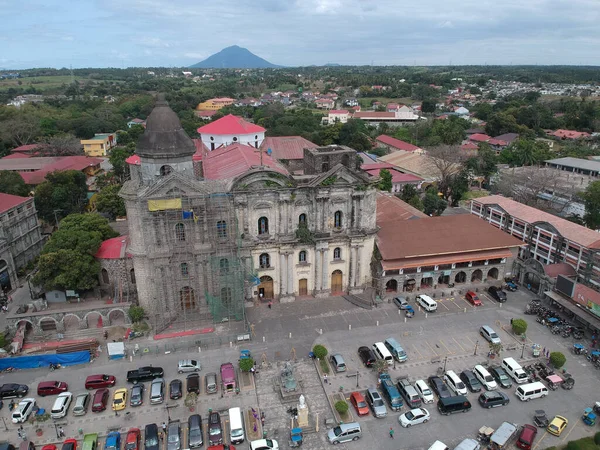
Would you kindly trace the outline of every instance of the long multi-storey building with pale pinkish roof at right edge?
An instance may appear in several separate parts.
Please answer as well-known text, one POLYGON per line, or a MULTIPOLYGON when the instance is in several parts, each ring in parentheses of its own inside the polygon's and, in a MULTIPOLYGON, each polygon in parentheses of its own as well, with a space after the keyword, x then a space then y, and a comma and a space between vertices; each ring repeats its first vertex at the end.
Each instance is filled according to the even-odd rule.
POLYGON ((471 214, 525 243, 512 273, 532 291, 571 272, 600 288, 600 233, 500 195, 472 200, 471 214))

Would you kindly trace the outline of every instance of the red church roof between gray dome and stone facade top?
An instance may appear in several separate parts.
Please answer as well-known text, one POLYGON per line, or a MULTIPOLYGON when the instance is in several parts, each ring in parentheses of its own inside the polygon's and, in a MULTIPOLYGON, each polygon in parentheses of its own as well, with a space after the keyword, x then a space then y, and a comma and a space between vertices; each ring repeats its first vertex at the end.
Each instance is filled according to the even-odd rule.
MULTIPOLYGON (((204 178, 207 180, 226 180, 235 178, 253 168, 260 167, 260 152, 244 144, 231 144, 220 147, 205 155, 203 161, 204 178)), ((266 152, 262 153, 263 166, 288 175, 266 152)))

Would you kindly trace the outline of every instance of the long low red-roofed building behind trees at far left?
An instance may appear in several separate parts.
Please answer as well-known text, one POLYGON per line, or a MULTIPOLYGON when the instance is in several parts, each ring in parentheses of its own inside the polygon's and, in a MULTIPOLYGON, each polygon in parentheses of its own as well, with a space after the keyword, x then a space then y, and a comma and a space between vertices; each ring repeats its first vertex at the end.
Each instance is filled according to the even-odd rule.
POLYGON ((0 159, 0 170, 19 172, 25 184, 37 186, 44 182, 46 175, 56 171, 77 170, 85 173, 90 179, 102 170, 101 164, 102 159, 87 156, 30 157, 30 155, 14 153, 0 159))

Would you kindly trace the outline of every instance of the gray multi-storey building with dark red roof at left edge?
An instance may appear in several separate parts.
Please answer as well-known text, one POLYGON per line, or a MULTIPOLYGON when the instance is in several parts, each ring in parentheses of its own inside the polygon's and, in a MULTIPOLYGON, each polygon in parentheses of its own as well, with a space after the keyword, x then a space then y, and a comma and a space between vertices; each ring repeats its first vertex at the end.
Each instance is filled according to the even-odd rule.
POLYGON ((33 198, 0 193, 0 288, 19 287, 17 272, 35 259, 44 245, 33 198))

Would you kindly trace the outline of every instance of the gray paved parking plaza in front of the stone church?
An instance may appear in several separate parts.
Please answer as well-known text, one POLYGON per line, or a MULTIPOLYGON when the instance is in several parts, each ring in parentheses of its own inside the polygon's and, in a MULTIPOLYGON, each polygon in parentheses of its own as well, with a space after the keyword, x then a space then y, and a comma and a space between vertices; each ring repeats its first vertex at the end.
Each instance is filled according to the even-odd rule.
MULTIPOLYGON (((479 336, 478 329, 481 325, 490 325, 502 338, 505 345, 503 357, 513 356, 522 364, 532 361, 530 345, 539 343, 549 350, 560 350, 567 355, 567 370, 573 374, 576 385, 571 391, 559 389, 552 391, 544 399, 534 400, 530 403, 521 403, 514 396, 514 387, 507 390, 511 402, 509 405, 491 410, 482 409, 477 403, 477 394, 468 397, 473 408, 467 414, 457 416, 441 416, 435 406, 428 405, 432 418, 429 423, 417 425, 410 429, 401 428, 398 424, 399 413, 390 413, 384 419, 375 419, 372 416, 360 418, 358 421, 363 428, 363 439, 358 442, 343 444, 347 448, 364 448, 364 445, 373 445, 378 449, 427 449, 437 439, 448 446, 458 444, 466 437, 475 437, 477 430, 482 425, 493 428, 498 427, 504 420, 515 423, 529 423, 535 409, 545 409, 549 416, 562 414, 569 419, 569 426, 560 438, 553 437, 540 430, 536 440, 536 448, 546 448, 552 445, 564 444, 569 439, 590 435, 593 430, 582 425, 580 416, 586 406, 590 406, 598 399, 590 397, 590 393, 597 391, 599 371, 587 363, 585 358, 574 356, 570 352, 573 339, 552 335, 545 327, 535 322, 535 316, 523 315, 524 306, 532 298, 523 290, 509 293, 508 302, 500 306, 495 301, 480 292, 483 305, 473 307, 462 296, 458 295, 437 296, 438 311, 425 315, 417 311, 415 317, 406 319, 398 312, 393 303, 383 302, 377 308, 364 310, 351 305, 343 298, 332 297, 327 299, 298 300, 294 303, 275 304, 272 309, 257 306, 247 309, 248 321, 253 325, 253 341, 236 343, 223 343, 223 345, 203 346, 198 352, 194 346, 194 339, 189 337, 189 345, 178 340, 174 346, 175 351, 165 354, 155 352, 144 354, 138 352, 133 361, 109 361, 105 352, 92 364, 62 369, 50 373, 48 369, 26 370, 2 374, 2 382, 27 383, 31 393, 35 396, 35 387, 42 380, 58 379, 70 384, 70 390, 76 394, 83 391, 83 380, 86 376, 97 373, 114 374, 117 377, 117 387, 126 386, 125 373, 141 365, 152 364, 165 369, 167 383, 174 378, 184 379, 185 374, 176 372, 177 360, 185 357, 200 359, 203 368, 201 375, 208 372, 218 372, 223 362, 233 362, 237 365, 240 348, 248 348, 259 364, 255 380, 251 377, 240 377, 239 394, 207 395, 202 392, 195 408, 205 418, 209 409, 223 412, 225 431, 228 431, 228 417, 226 411, 230 407, 240 406, 248 411, 264 411, 266 421, 264 431, 267 436, 277 439, 282 448, 289 447, 289 429, 291 415, 287 409, 295 403, 282 402, 277 390, 278 375, 286 360, 295 359, 295 371, 306 397, 312 419, 318 415, 319 432, 305 434, 304 446, 307 449, 328 448, 325 439, 325 420, 334 419, 331 403, 336 394, 342 393, 346 398, 354 390, 364 391, 368 387, 377 386, 377 376, 371 370, 364 368, 358 359, 356 350, 361 345, 370 346, 376 341, 387 337, 395 337, 408 353, 408 361, 397 363, 390 369, 390 375, 395 380, 399 376, 408 376, 411 381, 435 375, 439 367, 453 369, 460 372, 472 368, 475 364, 488 362, 488 347, 479 336), (527 342, 525 346, 520 340, 515 339, 510 333, 510 319, 523 317, 529 324, 527 342), (325 345, 330 353, 339 352, 343 355, 348 371, 344 374, 330 374, 327 385, 323 384, 321 375, 314 362, 307 358, 308 352, 315 343, 325 345), (509 350, 510 349, 510 350, 509 350), (523 358, 521 357, 523 355, 523 358), (265 361, 264 367, 261 365, 265 361), (358 387, 357 377, 358 372, 358 387), (255 383, 254 383, 255 381, 255 383), (395 439, 389 439, 389 428, 396 431, 395 439)), ((414 302, 411 297, 411 303, 414 302)), ((217 334, 226 334, 227 326, 218 327, 217 334)), ((589 336, 588 336, 589 338, 589 336)), ((216 341, 213 341, 216 342, 216 341)), ((151 340, 139 340, 128 343, 132 350, 135 344, 139 348, 155 346, 151 340)), ((499 361, 498 361, 499 362, 499 361)), ((111 389, 111 394, 114 389, 111 389)), ((50 409, 54 398, 38 399, 38 404, 50 409)), ((146 401, 146 403, 148 403, 146 401)), ((69 414, 64 420, 58 421, 65 429, 67 437, 80 437, 79 433, 98 432, 101 436, 107 431, 117 429, 125 432, 133 426, 141 427, 147 423, 157 424, 168 420, 180 420, 186 423, 187 417, 192 414, 183 405, 183 400, 168 400, 162 405, 144 405, 139 408, 127 407, 130 420, 125 420, 123 413, 117 417, 110 411, 110 406, 103 413, 88 412, 82 418, 69 414), (168 406, 168 408, 167 408, 168 406)), ((402 412, 406 411, 406 406, 402 412)), ((17 426, 10 423, 7 408, 0 411, 6 422, 7 435, 16 441, 17 426)), ((0 427, 3 424, 0 424, 0 427)), ((250 425, 247 424, 247 428, 250 425)), ((25 425, 28 435, 34 442, 57 442, 55 428, 52 421, 42 424, 44 434, 34 436, 31 425, 25 425)), ((186 427, 183 427, 183 444, 187 443, 186 427)), ((251 430, 247 430, 250 432, 251 430)), ((257 433, 260 434, 260 427, 257 433)), ((205 434, 206 439, 206 434, 205 434)), ((103 445, 103 441, 100 443, 103 445)))

